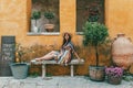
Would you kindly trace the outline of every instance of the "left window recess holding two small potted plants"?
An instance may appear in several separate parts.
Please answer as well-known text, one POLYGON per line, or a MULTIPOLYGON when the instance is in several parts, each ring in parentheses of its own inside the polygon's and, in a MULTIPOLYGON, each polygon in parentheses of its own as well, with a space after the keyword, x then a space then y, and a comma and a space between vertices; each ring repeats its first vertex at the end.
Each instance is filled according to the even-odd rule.
POLYGON ((59 0, 32 0, 30 33, 60 32, 59 0))

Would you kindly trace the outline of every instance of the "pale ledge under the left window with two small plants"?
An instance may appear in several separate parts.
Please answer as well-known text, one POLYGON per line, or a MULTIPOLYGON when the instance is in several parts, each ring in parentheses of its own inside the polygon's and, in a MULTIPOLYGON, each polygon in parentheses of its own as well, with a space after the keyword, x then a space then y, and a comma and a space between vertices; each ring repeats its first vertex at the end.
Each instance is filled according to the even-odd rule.
POLYGON ((38 33, 33 33, 33 32, 29 32, 27 35, 60 35, 60 32, 38 32, 38 33))

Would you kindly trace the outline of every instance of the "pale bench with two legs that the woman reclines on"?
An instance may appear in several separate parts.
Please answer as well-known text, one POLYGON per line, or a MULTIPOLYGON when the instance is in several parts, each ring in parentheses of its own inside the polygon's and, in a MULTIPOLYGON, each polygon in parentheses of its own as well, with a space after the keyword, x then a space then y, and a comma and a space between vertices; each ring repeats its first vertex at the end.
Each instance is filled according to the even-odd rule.
MULTIPOLYGON (((52 65, 60 65, 58 64, 54 59, 53 61, 42 61, 42 62, 34 62, 32 63, 34 65, 41 64, 42 65, 42 78, 45 78, 45 74, 47 74, 47 65, 52 64, 52 65)), ((74 65, 82 65, 84 64, 84 59, 72 59, 68 65, 71 67, 70 68, 70 75, 71 77, 74 76, 74 65)))

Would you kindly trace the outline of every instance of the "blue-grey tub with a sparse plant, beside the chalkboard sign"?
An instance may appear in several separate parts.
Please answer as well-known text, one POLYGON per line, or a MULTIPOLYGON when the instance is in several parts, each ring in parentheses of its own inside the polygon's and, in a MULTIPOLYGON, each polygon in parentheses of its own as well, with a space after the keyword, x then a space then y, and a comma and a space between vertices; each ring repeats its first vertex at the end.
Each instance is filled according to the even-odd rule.
POLYGON ((23 79, 28 76, 29 65, 24 63, 24 54, 30 52, 29 48, 22 47, 21 44, 16 45, 16 63, 10 65, 12 75, 16 79, 23 79))

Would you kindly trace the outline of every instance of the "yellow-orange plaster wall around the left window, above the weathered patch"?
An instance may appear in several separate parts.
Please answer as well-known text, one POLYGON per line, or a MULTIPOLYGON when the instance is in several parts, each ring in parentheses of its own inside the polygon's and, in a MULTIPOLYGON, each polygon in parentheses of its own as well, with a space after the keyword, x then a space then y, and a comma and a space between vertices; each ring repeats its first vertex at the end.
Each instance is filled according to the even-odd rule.
POLYGON ((74 36, 74 42, 76 38, 81 40, 80 35, 75 35, 75 0, 68 0, 68 4, 65 0, 60 0, 60 35, 27 35, 30 13, 31 0, 1 0, 0 36, 16 35, 17 42, 23 45, 53 44, 54 42, 60 45, 63 32, 70 32, 74 36))

